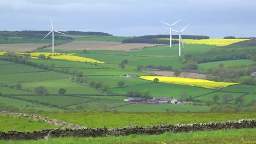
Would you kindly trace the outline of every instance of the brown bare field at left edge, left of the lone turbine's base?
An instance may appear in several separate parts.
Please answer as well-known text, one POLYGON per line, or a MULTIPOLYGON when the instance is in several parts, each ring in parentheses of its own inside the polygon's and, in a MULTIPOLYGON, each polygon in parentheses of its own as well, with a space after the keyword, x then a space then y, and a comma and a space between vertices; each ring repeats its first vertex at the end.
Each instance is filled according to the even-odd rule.
POLYGON ((1 44, 0 51, 25 52, 36 50, 38 47, 49 44, 1 44))

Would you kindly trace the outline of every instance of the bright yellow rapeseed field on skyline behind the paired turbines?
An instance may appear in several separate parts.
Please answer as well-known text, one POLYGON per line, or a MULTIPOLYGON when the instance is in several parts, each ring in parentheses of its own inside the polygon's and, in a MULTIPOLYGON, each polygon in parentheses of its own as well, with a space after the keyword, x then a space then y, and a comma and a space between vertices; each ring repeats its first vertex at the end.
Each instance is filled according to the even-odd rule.
MULTIPOLYGON (((161 40, 170 40, 170 39, 161 39, 161 40)), ((179 40, 179 39, 172 39, 179 40)), ((182 39, 183 43, 186 44, 206 44, 206 45, 217 45, 225 46, 234 44, 240 41, 245 41, 248 39, 182 39)))

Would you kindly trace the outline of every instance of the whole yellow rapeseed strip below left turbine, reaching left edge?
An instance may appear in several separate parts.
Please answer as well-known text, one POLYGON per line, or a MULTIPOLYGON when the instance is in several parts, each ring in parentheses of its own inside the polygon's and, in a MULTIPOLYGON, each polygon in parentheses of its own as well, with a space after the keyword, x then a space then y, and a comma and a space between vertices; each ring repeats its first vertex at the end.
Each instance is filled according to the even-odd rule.
MULTIPOLYGON (((3 56, 6 52, 0 52, 0 56, 3 56)), ((38 59, 40 55, 45 55, 45 57, 50 57, 51 59, 62 59, 67 61, 78 61, 78 62, 90 62, 90 63, 104 63, 101 61, 97 61, 96 59, 73 56, 75 53, 58 53, 58 52, 15 52, 15 54, 24 57, 27 54, 30 54, 30 58, 38 59)))

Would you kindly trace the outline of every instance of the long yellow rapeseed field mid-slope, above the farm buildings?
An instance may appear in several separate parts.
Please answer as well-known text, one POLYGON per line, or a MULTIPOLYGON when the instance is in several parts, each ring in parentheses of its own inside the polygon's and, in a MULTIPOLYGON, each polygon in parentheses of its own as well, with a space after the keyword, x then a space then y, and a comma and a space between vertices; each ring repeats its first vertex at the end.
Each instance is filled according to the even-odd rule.
POLYGON ((208 81, 203 79, 191 79, 186 77, 171 77, 171 76, 139 76, 139 78, 144 80, 154 81, 155 78, 159 79, 159 82, 173 83, 178 85, 205 87, 205 88, 223 88, 230 85, 237 85, 239 83, 231 82, 216 82, 208 81))

